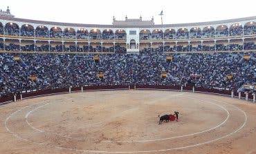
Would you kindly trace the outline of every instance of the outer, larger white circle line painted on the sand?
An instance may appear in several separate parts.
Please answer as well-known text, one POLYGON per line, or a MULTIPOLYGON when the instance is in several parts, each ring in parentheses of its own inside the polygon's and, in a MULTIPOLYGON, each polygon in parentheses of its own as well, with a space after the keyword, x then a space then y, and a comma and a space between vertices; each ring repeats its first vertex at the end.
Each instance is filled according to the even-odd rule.
MULTIPOLYGON (((214 100, 214 99, 211 99, 213 101, 216 101, 216 102, 219 102, 217 100, 214 100)), ((220 102, 220 103, 223 103, 223 102, 220 102)), ((226 102, 225 102, 226 103, 226 102)), ((38 103, 39 104, 39 103, 38 103)), ((228 104, 228 103, 226 103, 228 104)), ((33 104, 35 105, 35 104, 33 104)), ((31 105, 31 106, 33 106, 31 105)), ((229 104, 230 106, 234 106, 232 104, 229 104)), ((14 115, 15 113, 19 112, 20 110, 26 108, 28 106, 24 106, 23 108, 20 108, 19 110, 16 110, 14 113, 11 113, 7 118, 6 118, 6 121, 5 121, 5 126, 6 126, 6 130, 11 133, 12 135, 14 135, 15 137, 17 137, 18 139, 23 139, 25 141, 28 141, 28 142, 32 142, 34 144, 39 144, 39 145, 44 145, 43 143, 38 143, 38 142, 33 142, 33 141, 30 141, 28 139, 24 139, 22 137, 19 137, 19 135, 15 134, 15 133, 12 133, 9 128, 7 127, 6 123, 8 122, 8 119, 10 119, 10 117, 12 117, 12 115, 14 115)), ((183 148, 191 148, 191 147, 194 147, 194 146, 200 146, 200 145, 203 145, 203 144, 208 144, 208 143, 211 143, 211 142, 215 142, 219 139, 223 139, 223 138, 226 138, 234 133, 237 133, 238 131, 240 131, 242 128, 244 128, 244 126, 246 125, 247 121, 248 121, 248 116, 246 115, 246 113, 244 112, 244 110, 242 110, 241 108, 238 108, 237 106, 234 106, 235 108, 241 110, 242 113, 244 113, 244 124, 242 124, 239 128, 237 128, 237 130, 233 131, 232 133, 229 133, 228 135, 224 135, 223 137, 219 137, 217 139, 211 139, 210 141, 208 142, 202 142, 202 143, 199 143, 199 144, 192 144, 190 146, 181 146, 181 147, 177 147, 177 148, 167 148, 167 149, 160 149, 160 150, 154 150, 154 151, 89 151, 89 150, 82 150, 82 149, 74 149, 74 148, 64 148, 64 147, 60 147, 60 146, 54 146, 55 148, 59 148, 59 149, 65 149, 65 150, 68 150, 68 151, 80 151, 80 152, 86 152, 86 153, 154 153, 154 152, 161 152, 161 151, 172 151, 172 150, 178 150, 178 149, 183 149, 183 148)))

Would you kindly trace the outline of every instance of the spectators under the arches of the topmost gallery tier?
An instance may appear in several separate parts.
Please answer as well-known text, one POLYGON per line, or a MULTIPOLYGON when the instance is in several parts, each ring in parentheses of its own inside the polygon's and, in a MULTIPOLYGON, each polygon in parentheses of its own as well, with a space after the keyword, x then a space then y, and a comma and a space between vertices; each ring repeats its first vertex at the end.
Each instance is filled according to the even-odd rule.
MULTIPOLYGON (((6 35, 15 35, 15 36, 24 36, 24 37, 50 37, 57 39, 126 39, 126 33, 116 32, 113 33, 112 30, 104 30, 103 32, 91 31, 88 32, 85 29, 79 29, 77 32, 73 28, 62 29, 54 27, 51 30, 48 30, 46 26, 39 26, 33 28, 32 26, 23 25, 21 28, 16 23, 8 23, 6 26, 2 26, 0 23, 0 35, 3 34, 3 31, 6 35), (35 34, 34 34, 35 33, 35 34)), ((241 25, 235 24, 230 28, 226 26, 219 26, 217 30, 214 30, 212 27, 206 27, 203 30, 199 28, 191 28, 187 30, 182 28, 180 30, 162 32, 161 30, 156 32, 143 32, 140 33, 140 39, 196 39, 196 38, 210 38, 210 37, 235 37, 243 35, 255 35, 256 26, 253 23, 249 23, 244 26, 244 29, 241 25)))

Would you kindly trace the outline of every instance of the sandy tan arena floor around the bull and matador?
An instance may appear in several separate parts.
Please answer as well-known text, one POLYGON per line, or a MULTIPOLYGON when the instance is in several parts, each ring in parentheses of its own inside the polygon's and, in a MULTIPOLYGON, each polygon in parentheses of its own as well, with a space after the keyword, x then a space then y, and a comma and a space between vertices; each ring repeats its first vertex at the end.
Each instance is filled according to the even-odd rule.
POLYGON ((256 153, 256 104, 199 93, 118 90, 0 106, 0 153, 256 153), (158 115, 179 111, 179 122, 158 115))

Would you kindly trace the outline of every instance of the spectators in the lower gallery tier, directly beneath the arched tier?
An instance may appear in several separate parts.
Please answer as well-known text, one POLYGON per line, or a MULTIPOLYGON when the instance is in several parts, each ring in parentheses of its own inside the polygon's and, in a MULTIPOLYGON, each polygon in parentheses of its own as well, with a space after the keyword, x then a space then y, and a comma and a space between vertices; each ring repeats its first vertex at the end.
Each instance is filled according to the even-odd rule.
MULTIPOLYGON (((200 43, 200 42, 199 42, 200 43)), ((178 46, 168 46, 164 47, 165 52, 188 52, 188 51, 214 51, 215 44, 177 44, 178 46)), ((36 45, 35 44, 27 44, 21 45, 19 47, 18 44, 10 43, 3 46, 3 43, 0 43, 0 50, 15 50, 15 51, 52 51, 52 52, 113 52, 116 51, 118 53, 125 53, 126 48, 120 47, 119 45, 114 46, 75 46, 74 45, 62 45, 60 44, 42 44, 36 45)), ((160 50, 162 51, 163 48, 161 46, 157 46, 154 48, 142 48, 140 52, 147 52, 153 53, 152 50, 160 50)), ((216 44, 217 51, 239 51, 243 50, 242 42, 241 43, 232 43, 225 44, 225 42, 217 41, 216 44)), ((244 50, 256 50, 256 44, 254 41, 244 42, 244 50)))

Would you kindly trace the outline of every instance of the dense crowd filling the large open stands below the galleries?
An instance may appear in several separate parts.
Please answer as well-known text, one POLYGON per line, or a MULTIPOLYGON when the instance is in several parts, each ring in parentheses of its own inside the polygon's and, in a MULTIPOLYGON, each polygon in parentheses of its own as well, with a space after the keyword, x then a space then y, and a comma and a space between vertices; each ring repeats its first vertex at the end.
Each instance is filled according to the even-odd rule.
MULTIPOLYGON (((120 47, 122 48, 122 47, 120 47)), ((120 49, 121 50, 121 49, 120 49)), ((196 53, 172 55, 167 61, 161 54, 163 47, 151 54, 95 55, 68 54, 0 54, 0 96, 21 93, 24 90, 68 88, 84 85, 185 85, 190 75, 202 75, 194 82, 203 88, 238 90, 243 84, 255 84, 256 54, 248 52, 196 53), (14 56, 20 60, 15 61, 14 56), (161 73, 167 77, 161 77, 161 73), (100 79, 98 73, 104 73, 100 79), (227 79, 226 75, 233 75, 227 79), (32 81, 30 75, 36 75, 32 81)))

